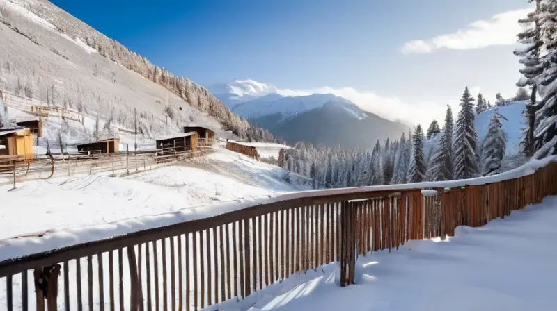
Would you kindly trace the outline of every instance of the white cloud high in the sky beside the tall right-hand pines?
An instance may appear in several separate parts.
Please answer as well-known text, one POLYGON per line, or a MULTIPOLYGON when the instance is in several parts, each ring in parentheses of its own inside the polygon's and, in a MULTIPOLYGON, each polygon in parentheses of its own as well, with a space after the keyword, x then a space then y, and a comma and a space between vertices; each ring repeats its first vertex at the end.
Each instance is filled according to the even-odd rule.
POLYGON ((432 53, 437 49, 483 49, 492 45, 509 45, 517 42, 521 31, 518 20, 526 17, 532 8, 511 10, 493 15, 457 29, 454 33, 439 35, 430 40, 405 42, 400 51, 410 53, 432 53))

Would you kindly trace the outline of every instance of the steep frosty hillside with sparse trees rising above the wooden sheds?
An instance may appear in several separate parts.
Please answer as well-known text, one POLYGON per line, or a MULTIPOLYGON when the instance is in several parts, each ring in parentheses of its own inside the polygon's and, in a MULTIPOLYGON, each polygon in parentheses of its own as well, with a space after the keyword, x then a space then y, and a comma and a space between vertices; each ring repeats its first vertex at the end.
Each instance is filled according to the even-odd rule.
POLYGON ((188 123, 244 135, 249 124, 204 87, 173 76, 46 0, 0 0, 0 90, 134 127, 188 123), (166 118, 169 115, 170 117, 166 118))

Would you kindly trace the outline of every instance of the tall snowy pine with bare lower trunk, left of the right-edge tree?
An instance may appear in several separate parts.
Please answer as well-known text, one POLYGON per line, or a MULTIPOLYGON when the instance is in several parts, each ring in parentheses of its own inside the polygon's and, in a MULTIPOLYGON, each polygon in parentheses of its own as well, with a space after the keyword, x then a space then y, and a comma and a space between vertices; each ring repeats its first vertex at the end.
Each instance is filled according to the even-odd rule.
MULTIPOLYGON (((532 2, 535 0, 529 0, 532 2)), ((540 15, 540 1, 535 1, 536 8, 533 12, 528 13, 524 19, 519 19, 519 24, 524 31, 517 35, 518 42, 522 44, 520 49, 515 49, 514 53, 519 56, 519 63, 524 65, 519 72, 523 75, 517 82, 517 86, 524 90, 524 87, 531 86, 531 94, 529 97, 530 103, 526 105, 527 127, 524 129, 524 136, 521 141, 522 153, 526 156, 532 156, 534 152, 534 128, 535 128, 535 104, 536 93, 538 92, 538 83, 535 83, 535 78, 542 73, 542 66, 540 66, 540 50, 543 42, 541 40, 541 31, 539 23, 540 15)), ((526 94, 527 95, 527 94, 526 94)), ((528 99, 528 98, 526 98, 528 99)))

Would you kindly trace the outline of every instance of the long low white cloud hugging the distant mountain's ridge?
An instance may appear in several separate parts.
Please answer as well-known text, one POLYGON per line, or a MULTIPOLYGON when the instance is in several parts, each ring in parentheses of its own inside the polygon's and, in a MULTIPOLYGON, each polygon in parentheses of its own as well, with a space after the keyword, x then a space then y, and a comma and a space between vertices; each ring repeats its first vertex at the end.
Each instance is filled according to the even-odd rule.
POLYGON ((270 93, 282 96, 308 96, 311 94, 334 94, 356 104, 362 110, 375 113, 391 121, 402 121, 406 124, 429 125, 433 119, 442 121, 446 103, 438 104, 428 101, 405 103, 396 96, 379 96, 373 92, 361 92, 352 87, 317 87, 311 90, 281 89, 269 83, 260 83, 251 79, 236 80, 230 83, 230 92, 237 97, 264 96, 270 93))

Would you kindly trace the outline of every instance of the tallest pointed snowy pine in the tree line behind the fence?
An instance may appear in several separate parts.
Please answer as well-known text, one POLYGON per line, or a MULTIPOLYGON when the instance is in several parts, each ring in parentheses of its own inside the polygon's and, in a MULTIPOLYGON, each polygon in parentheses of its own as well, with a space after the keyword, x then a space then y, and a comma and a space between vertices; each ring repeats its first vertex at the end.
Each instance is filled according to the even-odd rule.
POLYGON ((473 100, 468 87, 464 89, 464 94, 462 94, 462 99, 460 99, 460 107, 453 144, 455 178, 466 179, 480 174, 478 157, 476 155, 476 146, 478 145, 476 119, 473 110, 473 100))

